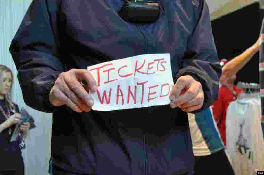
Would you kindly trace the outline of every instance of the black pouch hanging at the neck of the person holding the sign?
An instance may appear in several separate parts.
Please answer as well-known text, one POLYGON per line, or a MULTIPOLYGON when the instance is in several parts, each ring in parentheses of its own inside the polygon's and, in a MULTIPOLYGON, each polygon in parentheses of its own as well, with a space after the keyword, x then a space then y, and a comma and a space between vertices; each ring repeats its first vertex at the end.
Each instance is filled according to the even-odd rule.
POLYGON ((153 23, 158 20, 161 6, 157 0, 125 0, 119 16, 131 23, 153 23))

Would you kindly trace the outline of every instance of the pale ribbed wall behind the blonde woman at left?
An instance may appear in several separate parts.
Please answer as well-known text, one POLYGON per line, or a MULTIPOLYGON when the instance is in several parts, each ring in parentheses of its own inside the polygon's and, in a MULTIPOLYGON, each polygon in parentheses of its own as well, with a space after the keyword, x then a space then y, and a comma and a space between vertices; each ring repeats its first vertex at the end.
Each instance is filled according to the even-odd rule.
MULTIPOLYGON (((0 0, 0 64, 8 66, 14 74, 13 101, 19 108, 25 107, 34 117, 36 128, 30 130, 26 150, 22 155, 26 175, 47 175, 50 157, 50 130, 52 117, 25 105, 18 80, 17 70, 8 49, 11 41, 32 0, 0 0)), ((34 95, 34 94, 28 94, 34 95)))

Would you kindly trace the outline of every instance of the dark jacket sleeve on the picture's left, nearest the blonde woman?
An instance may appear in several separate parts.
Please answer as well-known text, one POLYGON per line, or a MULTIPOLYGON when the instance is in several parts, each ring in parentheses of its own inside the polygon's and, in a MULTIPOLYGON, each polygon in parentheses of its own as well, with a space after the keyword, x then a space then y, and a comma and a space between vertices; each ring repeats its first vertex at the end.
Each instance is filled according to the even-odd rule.
POLYGON ((24 101, 43 112, 53 112, 49 92, 63 72, 56 44, 58 7, 56 0, 33 0, 10 46, 24 101))

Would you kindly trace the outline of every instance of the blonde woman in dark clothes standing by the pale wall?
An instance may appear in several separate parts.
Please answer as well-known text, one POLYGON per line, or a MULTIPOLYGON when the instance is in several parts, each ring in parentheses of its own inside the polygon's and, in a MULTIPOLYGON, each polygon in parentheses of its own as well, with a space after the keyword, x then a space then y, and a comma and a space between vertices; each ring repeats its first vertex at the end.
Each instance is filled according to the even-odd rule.
MULTIPOLYGON (((16 124, 21 120, 18 106, 12 102, 12 84, 13 74, 11 70, 0 65, 0 174, 23 175, 24 162, 19 140, 10 142, 16 124)), ((20 125, 23 138, 25 138, 29 127, 29 122, 20 125)))

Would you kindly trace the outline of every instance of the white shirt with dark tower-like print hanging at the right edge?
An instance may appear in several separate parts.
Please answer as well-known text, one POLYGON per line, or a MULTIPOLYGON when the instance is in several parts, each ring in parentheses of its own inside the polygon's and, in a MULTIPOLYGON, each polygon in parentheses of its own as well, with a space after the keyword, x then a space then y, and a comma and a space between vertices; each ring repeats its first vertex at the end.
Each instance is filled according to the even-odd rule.
POLYGON ((239 100, 229 103, 226 117, 226 147, 235 174, 256 174, 264 169, 264 140, 261 129, 259 100, 239 100))

